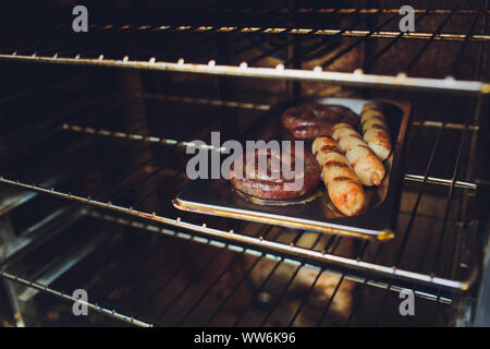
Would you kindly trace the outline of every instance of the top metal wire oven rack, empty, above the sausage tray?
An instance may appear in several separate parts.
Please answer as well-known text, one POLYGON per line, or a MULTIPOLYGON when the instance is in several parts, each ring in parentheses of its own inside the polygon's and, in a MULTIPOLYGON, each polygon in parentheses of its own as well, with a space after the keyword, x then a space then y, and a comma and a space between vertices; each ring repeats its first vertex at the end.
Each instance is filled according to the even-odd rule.
MULTIPOLYGON (((269 10, 271 14, 278 15, 278 12, 269 10)), ((226 13, 226 12, 224 12, 226 13)), ((233 22, 246 22, 247 20, 254 20, 255 16, 268 11, 259 13, 245 12, 248 15, 232 15, 224 16, 229 21, 233 22)), ((299 11, 299 13, 302 13, 299 11)), ((305 12, 304 14, 307 14, 305 12)), ((348 9, 335 9, 335 11, 320 11, 321 15, 341 15, 350 16, 353 11, 348 9)), ((483 75, 482 80, 455 79, 453 71, 448 71, 445 76, 432 77, 418 74, 409 74, 420 58, 427 51, 427 49, 437 43, 454 41, 461 46, 461 52, 465 49, 469 49, 473 45, 483 45, 490 40, 490 37, 486 34, 485 27, 488 22, 488 11, 436 11, 424 10, 420 11, 420 21, 417 21, 417 25, 422 25, 427 17, 440 17, 441 24, 437 31, 427 33, 400 33, 400 31, 383 31, 388 25, 392 25, 396 22, 397 14, 393 14, 393 10, 358 10, 355 12, 360 19, 353 25, 345 28, 289 28, 289 27, 260 27, 250 25, 242 26, 221 26, 213 25, 136 25, 136 24, 123 24, 117 25, 114 23, 93 24, 90 26, 89 38, 90 44, 87 44, 87 38, 79 36, 68 36, 66 39, 52 44, 52 40, 39 40, 34 38, 34 44, 15 44, 10 47, 0 49, 0 59, 10 61, 23 61, 23 62, 39 62, 39 63, 53 63, 53 64, 70 64, 70 65, 94 65, 94 67, 112 67, 112 68, 128 68, 128 69, 142 69, 151 71, 169 71, 169 72, 182 72, 182 73, 197 73, 208 75, 225 75, 225 76, 244 76, 244 77, 261 77, 261 79, 280 79, 280 80, 296 80, 305 82, 318 82, 318 83, 334 83, 347 86, 359 87, 385 87, 385 88, 408 88, 408 89, 426 89, 426 91, 440 91, 445 93, 468 93, 468 94, 488 94, 490 92, 490 85, 488 83, 488 72, 483 75), (388 20, 383 16, 390 14, 388 20), (451 23, 456 16, 471 15, 470 29, 467 33, 444 33, 445 26, 451 23), (367 29, 353 29, 366 22, 366 17, 379 16, 381 24, 367 29), (425 16, 425 17, 422 17, 425 16), (383 20, 381 20, 383 19, 383 20), (479 33, 478 33, 479 32, 479 33), (142 33, 143 35, 138 35, 142 33), (209 34, 225 34, 225 40, 230 45, 242 43, 250 36, 257 35, 271 35, 275 34, 282 37, 291 35, 297 35, 301 40, 307 40, 311 37, 327 36, 328 40, 321 40, 310 45, 309 48, 303 48, 303 59, 306 58, 305 51, 315 51, 321 47, 328 46, 328 43, 336 43, 340 38, 344 38, 350 45, 341 52, 330 58, 326 62, 313 67, 309 69, 292 69, 286 68, 282 63, 278 63, 275 67, 255 65, 255 62, 261 60, 261 58, 268 57, 275 52, 282 51, 292 45, 293 40, 287 40, 285 44, 281 44, 278 47, 268 49, 265 53, 252 57, 245 61, 232 62, 220 61, 217 57, 203 57, 204 47, 212 46, 215 36, 209 34), (482 33, 482 34, 481 34, 482 33), (99 35, 100 34, 100 35, 99 35), (127 43, 124 35, 131 35, 131 37, 137 37, 138 39, 148 36, 160 35, 160 43, 168 43, 176 45, 181 52, 175 55, 175 50, 172 52, 161 51, 160 47, 155 47, 155 44, 138 44, 140 47, 136 48, 134 43, 127 43), (99 35, 99 36, 98 36, 99 35), (348 41, 350 38, 359 38, 354 41, 348 41), (348 72, 327 71, 330 64, 335 60, 351 51, 355 47, 364 45, 368 39, 387 39, 390 40, 387 47, 375 58, 379 60, 381 56, 388 50, 392 50, 400 40, 414 39, 426 41, 424 47, 416 52, 415 57, 409 63, 400 70, 399 74, 389 75, 383 73, 376 73, 367 71, 370 67, 357 67, 348 72), (133 45, 133 46, 132 46, 133 45), (146 56, 146 57, 145 57, 146 56), (145 59, 144 59, 145 57, 145 59), (163 60, 157 59, 162 57, 163 60), (140 59, 138 59, 140 58, 140 59)), ((269 14, 270 15, 270 14, 269 14)), ((261 19, 266 23, 273 22, 273 16, 261 19)), ((280 21, 286 21, 289 19, 287 12, 279 12, 280 21)), ((275 19, 275 22, 278 20, 275 19)), ((254 23, 252 21, 250 23, 254 23)), ((70 26, 59 26, 58 31, 66 33, 70 31, 70 26)), ((47 35, 47 37, 52 37, 47 35)), ((261 38, 255 44, 244 47, 237 47, 235 50, 242 56, 245 51, 250 51, 260 44, 267 41, 267 38, 261 38)), ((232 45, 232 46, 233 46, 232 45)), ((305 46, 307 47, 307 46, 305 46)), ((215 51, 212 49, 211 51, 215 51)), ((236 55, 232 55, 234 58, 236 55)), ((456 57, 456 63, 461 59, 461 55, 456 57)), ((373 62, 370 62, 372 64, 373 62)), ((457 64, 455 64, 457 65, 457 64)))

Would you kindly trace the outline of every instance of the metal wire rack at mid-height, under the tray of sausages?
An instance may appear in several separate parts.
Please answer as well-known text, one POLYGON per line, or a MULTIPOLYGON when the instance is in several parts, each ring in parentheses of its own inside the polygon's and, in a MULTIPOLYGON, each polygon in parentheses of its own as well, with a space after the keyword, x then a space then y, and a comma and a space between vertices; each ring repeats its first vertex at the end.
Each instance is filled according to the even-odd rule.
MULTIPOLYGON (((222 105, 230 105, 230 104, 223 103, 222 105)), ((232 105, 234 105, 234 104, 232 104, 232 105)), ((241 105, 241 104, 237 104, 237 105, 241 105)), ((257 119, 257 120, 261 121, 261 119, 257 119)), ((114 121, 112 121, 112 122, 114 122, 114 121)), ((139 148, 142 148, 142 149, 139 149, 139 152, 135 152, 134 155, 132 154, 131 159, 133 159, 133 158, 138 159, 140 154, 144 154, 144 152, 146 149, 148 149, 148 146, 151 143, 156 143, 157 145, 170 146, 170 147, 182 147, 182 146, 185 147, 185 145, 188 143, 188 142, 180 142, 176 140, 162 139, 162 137, 143 134, 143 133, 126 133, 126 132, 121 132, 121 131, 107 130, 105 128, 98 129, 98 128, 94 128, 94 127, 81 127, 79 124, 73 124, 73 123, 62 123, 60 129, 62 132, 63 131, 64 132, 74 132, 75 134, 78 134, 81 136, 88 135, 88 136, 91 136, 95 139, 98 139, 98 137, 107 139, 107 137, 111 136, 112 139, 119 139, 121 141, 128 141, 128 142, 132 142, 133 144, 143 143, 143 145, 146 145, 146 147, 145 146, 137 147, 137 149, 139 149, 139 148)), ((425 173, 421 177, 417 176, 417 174, 411 174, 411 173, 407 173, 405 176, 407 181, 421 181, 421 183, 422 183, 420 191, 418 193, 417 201, 411 213, 406 232, 403 233, 404 237, 407 237, 406 239, 408 239, 408 236, 411 233, 409 229, 412 229, 412 227, 411 227, 412 221, 415 219, 414 213, 416 213, 418 203, 419 203, 421 196, 424 195, 424 191, 426 188, 425 183, 428 183, 429 171, 434 161, 434 157, 436 157, 434 155, 436 155, 438 145, 441 142, 442 132, 444 131, 444 124, 441 123, 439 125, 439 128, 436 128, 436 130, 438 130, 438 133, 437 133, 438 136, 436 137, 436 142, 432 147, 432 152, 429 157, 425 173)), ((453 131, 457 131, 457 130, 453 129, 453 131)), ((464 132, 464 130, 462 130, 462 132, 464 132)), ((466 136, 462 137, 462 142, 460 143, 457 155, 454 159, 454 171, 456 173, 457 173, 457 168, 461 163, 462 149, 465 146, 465 143, 467 142, 466 139, 467 139, 466 136)), ((72 139, 70 139, 70 141, 72 139)), ((66 146, 66 148, 69 148, 69 146, 66 146)), ((79 149, 77 149, 77 151, 79 152, 79 149)), ((56 153, 52 155, 47 155, 47 158, 48 159, 56 158, 57 161, 60 161, 60 154, 58 152, 59 152, 59 149, 57 148, 56 153)), ((75 153, 75 154, 77 154, 77 153, 75 153)), ((66 163, 64 163, 64 164, 69 164, 69 159, 73 158, 73 155, 74 154, 69 153, 66 155, 68 156, 66 160, 65 160, 66 163)), ((77 158, 77 156, 75 158, 77 158)), ((35 159, 35 160, 38 161, 39 159, 35 159)), ((143 164, 148 164, 149 160, 150 159, 146 159, 146 161, 143 161, 143 164)), ((94 165, 97 166, 97 163, 94 165)), ((46 169, 49 170, 49 166, 46 163, 44 166, 46 169)), ((121 167, 122 167, 122 165, 117 167, 117 169, 119 169, 121 167)), ((88 169, 88 171, 90 171, 90 170, 93 170, 93 168, 88 169)), ((144 185, 146 183, 146 181, 151 180, 152 177, 158 177, 160 172, 161 172, 161 168, 155 167, 150 171, 146 172, 145 177, 143 177, 142 179, 139 179, 137 181, 133 178, 135 176, 135 173, 132 173, 130 177, 127 177, 126 179, 123 179, 118 184, 120 186, 122 186, 122 194, 123 194, 126 191, 134 190, 135 185, 138 185, 138 184, 144 185)), ((83 172, 83 173, 85 173, 85 172, 83 172)), ((48 179, 52 178, 53 176, 54 176, 54 173, 49 173, 48 179)), ((184 177, 185 177, 185 168, 181 167, 170 180, 173 180, 176 182, 179 180, 181 180, 181 182, 182 182, 182 178, 184 178, 184 177), (176 180, 175 180, 175 178, 176 178, 176 180)), ((48 179, 42 179, 41 182, 46 182, 48 179)), ((102 201, 102 200, 97 200, 96 198, 97 196, 90 192, 83 195, 83 194, 72 193, 72 192, 68 192, 68 191, 64 192, 62 190, 58 190, 52 186, 45 188, 44 185, 39 185, 39 184, 28 184, 30 182, 34 182, 34 183, 39 182, 39 179, 21 181, 17 179, 13 180, 13 179, 11 179, 11 177, 4 176, 4 177, 0 177, 0 181, 3 183, 15 185, 17 188, 27 189, 28 191, 45 193, 45 194, 53 195, 57 197, 62 197, 62 198, 65 198, 69 201, 75 201, 75 202, 83 203, 86 205, 91 205, 94 207, 107 208, 107 209, 113 210, 115 213, 124 214, 124 215, 132 216, 135 218, 145 218, 145 219, 151 220, 154 222, 160 222, 160 224, 164 224, 168 226, 173 226, 173 227, 177 227, 177 228, 182 228, 182 229, 186 229, 186 230, 193 230, 198 233, 203 233, 205 236, 210 236, 215 239, 230 240, 235 243, 254 246, 255 249, 280 252, 280 253, 284 253, 287 255, 294 255, 296 257, 303 257, 306 260, 310 260, 311 262, 313 261, 328 262, 328 263, 333 263, 333 264, 336 264, 336 265, 340 265, 343 267, 348 267, 352 269, 358 269, 358 270, 371 272, 371 273, 375 272, 376 274, 380 274, 383 276, 390 276, 390 277, 396 277, 396 278, 404 279, 404 280, 412 280, 412 281, 425 282, 425 284, 429 284, 429 285, 430 284, 438 285, 438 286, 442 286, 442 287, 446 287, 446 288, 456 288, 456 289, 466 290, 469 288, 469 286, 471 285, 474 278, 476 276, 476 274, 475 274, 476 269, 475 269, 474 264, 470 264, 471 272, 469 273, 468 278, 463 279, 463 280, 456 280, 456 279, 448 278, 448 277, 439 277, 436 275, 419 273, 419 268, 405 269, 405 268, 401 268, 401 267, 393 267, 393 266, 395 266, 395 265, 397 266, 400 264, 400 261, 397 261, 397 260, 401 260, 401 256, 404 253, 404 250, 406 248, 406 242, 402 243, 401 246, 397 246, 397 249, 400 249, 400 251, 397 253, 396 260, 391 260, 390 261, 391 263, 388 262, 390 264, 383 265, 381 263, 376 263, 376 258, 372 261, 369 261, 367 258, 364 258, 364 260, 357 258, 357 257, 355 257, 355 255, 342 256, 342 255, 336 255, 333 253, 327 253, 328 249, 326 249, 326 248, 313 250, 313 249, 305 248, 301 244, 291 245, 291 244, 285 244, 285 243, 281 243, 281 242, 277 242, 277 241, 270 241, 268 239, 265 239, 264 237, 250 237, 249 234, 247 234, 246 232, 243 232, 243 231, 230 231, 230 230, 223 230, 223 229, 216 229, 216 228, 212 228, 212 226, 210 224, 186 222, 183 219, 181 219, 182 213, 175 213, 169 208, 167 208, 164 212, 171 212, 175 216, 175 218, 167 218, 162 214, 157 215, 157 213, 155 210, 140 209, 140 208, 138 208, 138 204, 135 204, 135 203, 127 204, 127 205, 115 204, 118 202, 118 198, 121 196, 121 194, 118 191, 115 191, 115 194, 108 196, 108 198, 106 201, 102 201)), ((456 176, 454 176, 452 179, 432 178, 430 180, 430 182, 448 188, 448 192, 451 194, 450 200, 448 201, 449 203, 451 203, 452 196, 455 195, 453 191, 456 188, 456 185, 460 189, 467 189, 469 191, 475 190, 475 186, 476 186, 475 183, 456 181, 456 176)), ((66 186, 66 188, 73 189, 73 186, 66 186)), ((119 188, 119 186, 117 186, 117 188, 119 188)), ((158 192, 158 191, 154 190, 154 192, 149 192, 149 193, 147 193, 147 195, 149 196, 151 194, 155 194, 155 192, 158 192)), ((172 191, 172 193, 169 193, 168 202, 170 202, 175 194, 176 193, 174 191, 172 191)), ((402 201, 404 201, 404 200, 402 200, 402 201)), ((145 204, 145 202, 143 202, 143 204, 145 204)), ((150 207, 150 208, 155 208, 155 207, 150 207)), ((449 217, 450 208, 451 208, 451 205, 448 205, 446 212, 443 215, 443 217, 446 219, 450 218, 449 217)), ((462 222, 462 225, 469 225, 469 222, 462 222)), ((445 229, 445 227, 443 227, 443 228, 445 229)), ((297 239, 299 239, 301 236, 304 233, 305 233, 304 231, 298 231, 297 239)), ((441 232, 441 234, 442 234, 442 232, 441 232)), ((434 243, 434 242, 432 242, 432 243, 434 243)), ((394 248, 395 246, 390 246, 390 249, 394 249, 394 248)), ((384 249, 384 244, 380 244, 378 246, 378 249, 384 249)), ((439 249, 441 249, 441 246, 439 246, 439 249)), ((441 251, 439 251, 438 254, 441 254, 441 251)), ((424 257, 424 260, 425 260, 425 257, 424 257)), ((424 262, 421 262, 421 264, 424 264, 424 262)))

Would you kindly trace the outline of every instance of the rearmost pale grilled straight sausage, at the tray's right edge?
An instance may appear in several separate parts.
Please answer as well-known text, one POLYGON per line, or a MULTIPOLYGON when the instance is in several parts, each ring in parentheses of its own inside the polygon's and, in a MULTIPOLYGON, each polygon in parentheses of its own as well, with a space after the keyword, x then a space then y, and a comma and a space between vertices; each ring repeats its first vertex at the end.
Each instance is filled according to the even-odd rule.
POLYGON ((385 160, 391 153, 391 139, 387 120, 375 104, 366 104, 360 112, 364 140, 375 154, 385 160))

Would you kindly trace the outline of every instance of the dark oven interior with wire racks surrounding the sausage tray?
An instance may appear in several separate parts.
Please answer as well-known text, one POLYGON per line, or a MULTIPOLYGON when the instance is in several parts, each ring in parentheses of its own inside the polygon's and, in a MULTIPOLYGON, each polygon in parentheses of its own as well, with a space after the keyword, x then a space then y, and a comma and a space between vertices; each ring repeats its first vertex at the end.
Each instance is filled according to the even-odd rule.
POLYGON ((403 1, 75 4, 2 12, 2 326, 490 324, 488 1, 412 1, 413 33, 403 1), (326 96, 412 104, 395 239, 172 205, 186 142, 326 96))

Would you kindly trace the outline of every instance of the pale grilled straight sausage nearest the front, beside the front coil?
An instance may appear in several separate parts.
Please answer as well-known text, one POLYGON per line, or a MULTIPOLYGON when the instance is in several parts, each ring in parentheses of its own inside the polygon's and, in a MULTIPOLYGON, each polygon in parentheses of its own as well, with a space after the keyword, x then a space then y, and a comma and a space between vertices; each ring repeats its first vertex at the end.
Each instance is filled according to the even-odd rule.
POLYGON ((357 215, 364 207, 366 195, 359 179, 335 141, 318 137, 313 152, 321 165, 321 177, 333 205, 344 215, 357 215))

